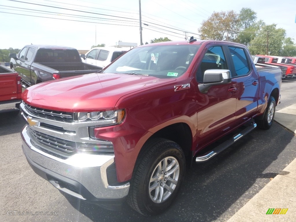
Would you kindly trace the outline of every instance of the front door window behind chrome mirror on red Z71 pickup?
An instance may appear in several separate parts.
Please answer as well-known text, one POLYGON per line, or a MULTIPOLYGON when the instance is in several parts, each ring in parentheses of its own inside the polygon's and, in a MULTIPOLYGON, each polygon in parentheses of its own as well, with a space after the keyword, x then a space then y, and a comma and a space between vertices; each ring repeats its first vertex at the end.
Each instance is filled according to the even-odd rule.
POLYGON ((221 46, 210 47, 205 53, 197 70, 198 82, 203 82, 205 70, 208 69, 228 69, 221 46))

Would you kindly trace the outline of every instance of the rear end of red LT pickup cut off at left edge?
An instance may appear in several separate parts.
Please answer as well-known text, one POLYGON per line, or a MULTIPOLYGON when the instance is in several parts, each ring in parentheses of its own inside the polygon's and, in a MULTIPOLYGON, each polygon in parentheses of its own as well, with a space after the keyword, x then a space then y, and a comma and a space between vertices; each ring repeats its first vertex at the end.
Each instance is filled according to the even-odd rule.
POLYGON ((17 115, 22 102, 21 94, 20 76, 17 72, 0 65, 0 113, 15 111, 12 113, 17 115))

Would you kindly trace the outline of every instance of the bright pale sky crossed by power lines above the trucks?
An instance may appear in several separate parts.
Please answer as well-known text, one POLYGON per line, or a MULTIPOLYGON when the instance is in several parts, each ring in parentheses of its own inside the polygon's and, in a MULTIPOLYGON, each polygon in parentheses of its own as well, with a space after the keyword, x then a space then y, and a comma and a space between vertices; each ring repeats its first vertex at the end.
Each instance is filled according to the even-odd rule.
MULTIPOLYGON (((118 41, 140 45, 139 0, 1 0, 0 49, 22 49, 27 44, 114 46, 118 41), (48 17, 48 18, 45 18, 48 17)), ((269 1, 141 0, 142 41, 186 36, 198 38, 198 28, 213 12, 251 8, 257 20, 286 30, 296 43, 296 7, 269 1), (223 3, 223 4, 222 4, 223 3)))

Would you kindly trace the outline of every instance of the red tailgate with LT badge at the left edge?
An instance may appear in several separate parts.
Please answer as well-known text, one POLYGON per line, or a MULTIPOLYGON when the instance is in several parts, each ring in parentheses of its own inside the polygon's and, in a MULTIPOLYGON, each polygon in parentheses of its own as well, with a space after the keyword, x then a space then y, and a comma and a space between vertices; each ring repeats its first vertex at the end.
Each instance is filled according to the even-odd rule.
POLYGON ((0 101, 17 99, 17 73, 0 66, 0 101))

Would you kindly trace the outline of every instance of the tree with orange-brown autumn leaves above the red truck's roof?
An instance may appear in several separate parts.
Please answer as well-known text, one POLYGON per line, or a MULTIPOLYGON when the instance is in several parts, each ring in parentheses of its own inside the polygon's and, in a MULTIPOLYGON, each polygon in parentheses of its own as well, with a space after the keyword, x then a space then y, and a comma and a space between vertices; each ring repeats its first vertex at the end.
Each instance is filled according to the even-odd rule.
POLYGON ((233 10, 228 12, 214 12, 207 20, 202 21, 198 29, 200 38, 232 41, 236 38, 239 25, 238 14, 233 10))

